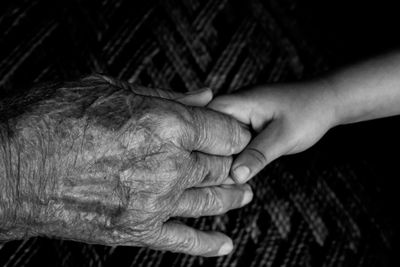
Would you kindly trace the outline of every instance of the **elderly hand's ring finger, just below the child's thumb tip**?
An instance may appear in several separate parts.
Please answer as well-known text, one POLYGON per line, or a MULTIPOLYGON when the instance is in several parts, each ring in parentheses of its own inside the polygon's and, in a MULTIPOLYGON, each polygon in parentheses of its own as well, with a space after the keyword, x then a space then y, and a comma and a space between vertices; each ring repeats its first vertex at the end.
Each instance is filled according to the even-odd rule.
POLYGON ((224 214, 252 199, 253 192, 247 184, 191 188, 182 194, 172 216, 197 218, 224 214))

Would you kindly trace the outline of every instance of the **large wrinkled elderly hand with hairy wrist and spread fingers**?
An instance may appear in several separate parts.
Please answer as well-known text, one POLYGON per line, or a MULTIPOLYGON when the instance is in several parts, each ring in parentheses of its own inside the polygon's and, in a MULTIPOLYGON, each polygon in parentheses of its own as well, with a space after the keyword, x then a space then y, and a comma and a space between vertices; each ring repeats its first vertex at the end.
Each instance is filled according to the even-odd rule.
POLYGON ((0 114, 0 240, 232 249, 222 233, 169 220, 251 200, 228 177, 250 140, 231 117, 99 75, 4 99, 0 114))

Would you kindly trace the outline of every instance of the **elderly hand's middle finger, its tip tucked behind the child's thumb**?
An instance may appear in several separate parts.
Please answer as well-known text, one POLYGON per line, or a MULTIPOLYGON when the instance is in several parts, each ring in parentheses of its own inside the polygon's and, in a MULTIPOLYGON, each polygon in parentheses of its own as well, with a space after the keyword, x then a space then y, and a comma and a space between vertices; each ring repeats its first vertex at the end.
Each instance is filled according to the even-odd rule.
POLYGON ((192 152, 191 157, 192 166, 196 166, 198 177, 192 180, 189 187, 220 185, 228 179, 232 157, 215 156, 202 152, 192 152))

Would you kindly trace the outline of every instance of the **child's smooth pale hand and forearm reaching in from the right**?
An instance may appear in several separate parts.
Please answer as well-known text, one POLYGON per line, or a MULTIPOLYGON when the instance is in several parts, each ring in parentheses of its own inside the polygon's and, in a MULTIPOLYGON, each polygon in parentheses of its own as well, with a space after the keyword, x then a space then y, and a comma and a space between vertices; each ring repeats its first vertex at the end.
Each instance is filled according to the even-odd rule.
POLYGON ((273 160, 308 149, 337 125, 399 115, 400 53, 313 81, 223 95, 208 107, 257 132, 232 164, 233 179, 245 183, 273 160))

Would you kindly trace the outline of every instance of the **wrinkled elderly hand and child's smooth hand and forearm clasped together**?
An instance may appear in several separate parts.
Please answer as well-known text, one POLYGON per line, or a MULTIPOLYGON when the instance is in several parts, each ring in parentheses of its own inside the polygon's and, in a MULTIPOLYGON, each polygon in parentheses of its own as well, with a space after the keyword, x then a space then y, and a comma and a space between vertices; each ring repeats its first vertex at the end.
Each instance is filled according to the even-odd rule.
POLYGON ((92 76, 2 100, 0 240, 226 255, 228 236, 173 218, 242 207, 253 196, 246 182, 274 159, 336 125, 399 114, 398 77, 396 55, 215 99, 92 76))

